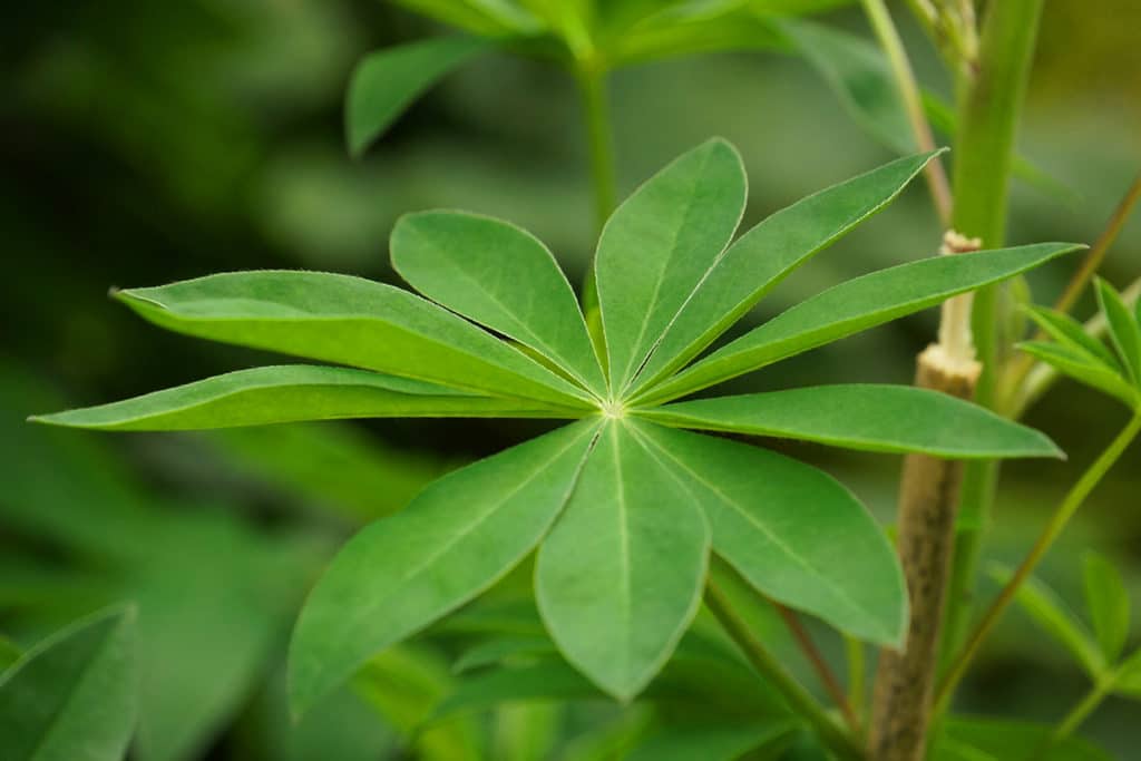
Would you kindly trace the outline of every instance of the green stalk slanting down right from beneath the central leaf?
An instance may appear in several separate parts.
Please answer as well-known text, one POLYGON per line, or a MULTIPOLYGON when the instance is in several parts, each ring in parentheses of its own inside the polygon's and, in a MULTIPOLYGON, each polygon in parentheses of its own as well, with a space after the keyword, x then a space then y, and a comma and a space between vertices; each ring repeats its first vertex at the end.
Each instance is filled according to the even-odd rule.
POLYGON ((721 623, 726 633, 737 643, 756 671, 776 687, 788 704, 807 720, 820 739, 842 759, 859 761, 864 753, 859 745, 832 720, 820 704, 785 671, 772 655, 764 649, 744 621, 733 610, 728 598, 710 581, 705 586, 705 605, 721 623))

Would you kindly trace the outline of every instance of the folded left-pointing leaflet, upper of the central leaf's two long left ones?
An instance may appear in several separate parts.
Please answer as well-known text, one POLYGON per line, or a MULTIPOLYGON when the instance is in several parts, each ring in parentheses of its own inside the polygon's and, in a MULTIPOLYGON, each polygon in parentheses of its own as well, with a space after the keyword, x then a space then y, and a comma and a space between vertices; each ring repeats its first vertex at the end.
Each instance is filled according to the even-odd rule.
POLYGON ((118 291, 188 335, 482 391, 574 405, 582 391, 471 323, 359 277, 261 270, 118 291))

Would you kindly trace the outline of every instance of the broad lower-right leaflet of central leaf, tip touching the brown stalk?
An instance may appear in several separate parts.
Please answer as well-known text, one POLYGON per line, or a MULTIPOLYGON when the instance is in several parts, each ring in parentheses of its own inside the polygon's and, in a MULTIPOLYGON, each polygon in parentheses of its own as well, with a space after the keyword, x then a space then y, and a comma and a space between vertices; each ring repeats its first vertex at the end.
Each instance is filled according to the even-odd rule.
POLYGON ((903 641, 899 562, 848 489, 810 465, 737 442, 659 426, 639 434, 705 510, 713 550, 756 589, 855 637, 903 641))

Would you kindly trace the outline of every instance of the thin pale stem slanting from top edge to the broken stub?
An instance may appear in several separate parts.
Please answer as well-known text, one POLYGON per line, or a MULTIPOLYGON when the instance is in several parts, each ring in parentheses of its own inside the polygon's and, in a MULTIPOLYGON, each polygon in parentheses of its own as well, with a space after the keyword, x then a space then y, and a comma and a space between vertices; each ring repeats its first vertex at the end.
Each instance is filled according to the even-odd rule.
MULTIPOLYGON (((915 80, 912 63, 907 58, 904 41, 899 39, 899 32, 891 21, 891 14, 888 13, 883 0, 863 1, 864 13, 872 24, 875 37, 880 40, 884 52, 888 54, 891 72, 896 78, 896 87, 904 100, 904 111, 907 112, 907 120, 911 122, 912 132, 915 136, 915 144, 920 151, 934 151, 934 136, 931 132, 931 124, 928 123, 926 113, 923 111, 923 96, 920 94, 920 86, 915 80)), ((942 161, 936 157, 934 161, 928 163, 923 173, 928 188, 931 191, 931 201, 939 214, 939 222, 946 228, 950 225, 952 197, 950 184, 947 181, 942 161)))

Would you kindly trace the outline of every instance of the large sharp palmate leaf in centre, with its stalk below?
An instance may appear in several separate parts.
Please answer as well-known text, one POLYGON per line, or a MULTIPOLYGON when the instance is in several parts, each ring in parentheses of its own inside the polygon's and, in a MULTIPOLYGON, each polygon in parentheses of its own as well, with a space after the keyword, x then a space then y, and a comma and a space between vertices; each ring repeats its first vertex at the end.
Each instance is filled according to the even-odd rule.
MULTIPOLYGON (((856 497, 806 464, 680 429, 956 459, 1058 456, 1058 448, 923 389, 828 386, 673 400, 1078 248, 1037 244, 873 273, 699 356, 783 277, 887 205, 933 155, 828 188, 733 241, 746 195, 741 160, 722 140, 690 151, 607 221, 594 262, 594 340, 542 243, 459 212, 410 214, 393 233, 394 266, 427 298, 292 272, 116 291, 176 332, 349 366, 238 371, 37 420, 102 430, 386 416, 575 421, 443 477, 341 550, 294 632, 299 711, 536 547, 547 631, 577 671, 620 699, 641 693, 674 653, 706 588, 711 549, 764 597, 898 647, 907 607, 898 561, 856 497)), ((858 756, 851 731, 747 634, 717 584, 706 599, 800 719, 834 752, 858 756)))

